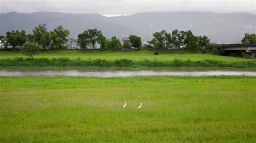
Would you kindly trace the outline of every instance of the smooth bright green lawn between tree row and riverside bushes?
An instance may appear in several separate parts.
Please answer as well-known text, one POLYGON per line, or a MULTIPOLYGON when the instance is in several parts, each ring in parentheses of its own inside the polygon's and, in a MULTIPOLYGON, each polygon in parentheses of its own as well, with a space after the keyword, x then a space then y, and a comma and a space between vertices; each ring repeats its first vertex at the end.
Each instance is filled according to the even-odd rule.
MULTIPOLYGON (((0 59, 14 59, 16 57, 27 58, 19 51, 0 51, 0 59)), ((236 58, 232 56, 219 56, 212 53, 200 54, 200 53, 186 53, 186 52, 159 52, 159 55, 154 55, 154 51, 130 51, 130 52, 120 52, 120 51, 82 51, 82 50, 62 50, 62 51, 46 51, 35 55, 35 58, 58 58, 66 57, 70 59, 77 59, 78 57, 82 60, 87 59, 105 59, 105 60, 117 60, 117 59, 131 59, 134 61, 142 60, 163 60, 169 61, 173 59, 179 60, 224 60, 224 61, 240 61, 240 60, 255 60, 247 58, 236 58)))

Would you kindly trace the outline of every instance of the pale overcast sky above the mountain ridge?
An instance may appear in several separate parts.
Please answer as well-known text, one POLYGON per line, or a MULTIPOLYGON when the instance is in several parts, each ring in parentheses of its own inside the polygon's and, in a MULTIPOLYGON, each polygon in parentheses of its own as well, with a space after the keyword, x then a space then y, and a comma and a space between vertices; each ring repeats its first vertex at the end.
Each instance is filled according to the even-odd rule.
POLYGON ((0 0, 0 12, 55 11, 99 13, 106 16, 138 12, 247 12, 256 14, 256 0, 0 0))

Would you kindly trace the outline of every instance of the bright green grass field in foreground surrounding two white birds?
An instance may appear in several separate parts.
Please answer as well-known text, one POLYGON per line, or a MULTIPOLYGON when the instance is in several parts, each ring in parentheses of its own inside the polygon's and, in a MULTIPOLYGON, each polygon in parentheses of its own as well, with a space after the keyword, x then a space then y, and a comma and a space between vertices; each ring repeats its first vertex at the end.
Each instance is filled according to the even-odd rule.
POLYGON ((256 77, 0 77, 0 83, 0 142, 256 140, 256 77))

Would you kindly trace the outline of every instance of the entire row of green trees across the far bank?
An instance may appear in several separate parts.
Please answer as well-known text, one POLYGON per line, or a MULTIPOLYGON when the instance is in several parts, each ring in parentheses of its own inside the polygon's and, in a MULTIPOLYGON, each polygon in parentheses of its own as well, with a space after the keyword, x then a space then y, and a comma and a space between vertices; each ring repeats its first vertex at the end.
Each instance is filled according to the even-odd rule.
MULTIPOLYGON (((81 49, 86 49, 87 46, 91 46, 93 49, 96 45, 100 45, 101 50, 111 49, 111 50, 122 50, 122 49, 139 49, 142 46, 142 39, 137 35, 130 35, 129 41, 124 41, 121 44, 117 37, 111 37, 107 39, 102 31, 97 28, 86 30, 78 34, 78 39, 68 39, 69 30, 63 28, 59 25, 54 30, 48 31, 46 24, 39 24, 36 26, 31 34, 26 34, 25 30, 12 30, 6 32, 6 35, 0 35, 0 40, 5 41, 5 47, 11 45, 12 48, 17 48, 22 46, 26 42, 31 42, 32 44, 38 45, 42 50, 55 50, 55 49, 66 49, 67 42, 70 41, 70 45, 76 43, 81 49)), ((256 35, 246 33, 245 37, 241 39, 242 43, 255 43, 256 35)), ((210 43, 210 39, 206 35, 196 36, 191 30, 188 31, 178 31, 173 30, 172 32, 167 32, 162 30, 160 32, 155 32, 152 35, 152 40, 149 41, 150 45, 146 45, 146 48, 165 50, 165 49, 213 49, 217 45, 210 43)), ((31 44, 28 44, 31 46, 31 44)), ((37 49, 38 51, 39 49, 37 49)))

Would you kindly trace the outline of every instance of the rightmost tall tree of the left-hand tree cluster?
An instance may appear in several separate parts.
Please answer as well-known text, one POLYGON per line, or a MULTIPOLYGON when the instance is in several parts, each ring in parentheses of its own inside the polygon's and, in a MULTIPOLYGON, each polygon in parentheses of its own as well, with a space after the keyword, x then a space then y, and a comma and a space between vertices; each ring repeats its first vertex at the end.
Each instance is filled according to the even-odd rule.
POLYGON ((51 48, 52 49, 62 49, 64 48, 63 45, 66 44, 69 37, 69 30, 65 30, 63 26, 59 25, 53 31, 50 32, 50 39, 51 39, 51 48))

